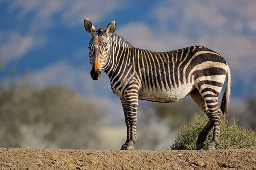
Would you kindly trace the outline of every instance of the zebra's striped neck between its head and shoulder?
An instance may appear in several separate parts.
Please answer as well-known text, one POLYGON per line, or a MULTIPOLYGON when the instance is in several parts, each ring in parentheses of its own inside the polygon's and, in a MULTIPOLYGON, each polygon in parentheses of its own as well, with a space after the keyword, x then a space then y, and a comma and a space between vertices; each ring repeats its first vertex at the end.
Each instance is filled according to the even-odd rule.
POLYGON ((108 54, 108 59, 106 60, 106 64, 103 67, 103 71, 105 71, 107 75, 109 75, 110 72, 116 70, 116 62, 118 62, 117 59, 119 57, 122 57, 119 54, 124 50, 124 48, 133 47, 131 43, 129 43, 122 36, 119 36, 117 34, 113 34, 110 37, 110 44, 111 46, 108 54))

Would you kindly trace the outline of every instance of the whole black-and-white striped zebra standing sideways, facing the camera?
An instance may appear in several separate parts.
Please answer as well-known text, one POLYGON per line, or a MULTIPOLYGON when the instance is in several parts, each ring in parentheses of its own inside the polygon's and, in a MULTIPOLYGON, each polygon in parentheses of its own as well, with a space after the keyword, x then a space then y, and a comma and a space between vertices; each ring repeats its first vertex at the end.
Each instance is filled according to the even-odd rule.
POLYGON ((204 147, 209 131, 214 127, 212 141, 205 148, 215 149, 219 142, 220 121, 227 113, 230 101, 231 73, 225 59, 203 46, 191 46, 174 51, 154 52, 135 48, 122 37, 113 34, 115 21, 96 30, 85 18, 84 28, 91 35, 90 71, 98 80, 104 71, 111 89, 119 96, 127 127, 127 139, 121 150, 134 149, 137 142, 136 122, 138 99, 151 102, 176 102, 187 95, 208 116, 208 123, 198 135, 197 149, 204 147), (218 96, 227 76, 221 106, 218 96))

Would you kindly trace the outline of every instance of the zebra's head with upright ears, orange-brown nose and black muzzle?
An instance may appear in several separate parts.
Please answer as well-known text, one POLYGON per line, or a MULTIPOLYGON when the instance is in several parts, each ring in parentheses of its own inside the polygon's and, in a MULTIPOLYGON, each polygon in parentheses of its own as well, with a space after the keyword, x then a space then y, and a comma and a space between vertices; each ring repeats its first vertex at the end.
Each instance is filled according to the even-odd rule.
POLYGON ((98 30, 96 30, 90 20, 85 18, 84 28, 91 35, 89 56, 92 70, 90 74, 93 80, 98 80, 108 57, 110 48, 109 38, 116 29, 116 22, 112 21, 109 23, 106 29, 99 27, 98 30))

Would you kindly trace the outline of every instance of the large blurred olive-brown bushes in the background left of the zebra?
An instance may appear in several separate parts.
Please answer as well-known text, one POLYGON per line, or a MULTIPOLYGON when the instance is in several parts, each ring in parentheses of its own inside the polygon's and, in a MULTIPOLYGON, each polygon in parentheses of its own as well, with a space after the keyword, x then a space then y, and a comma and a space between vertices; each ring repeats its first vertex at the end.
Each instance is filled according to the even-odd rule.
POLYGON ((0 146, 96 148, 99 116, 75 91, 37 89, 21 79, 0 87, 0 146))

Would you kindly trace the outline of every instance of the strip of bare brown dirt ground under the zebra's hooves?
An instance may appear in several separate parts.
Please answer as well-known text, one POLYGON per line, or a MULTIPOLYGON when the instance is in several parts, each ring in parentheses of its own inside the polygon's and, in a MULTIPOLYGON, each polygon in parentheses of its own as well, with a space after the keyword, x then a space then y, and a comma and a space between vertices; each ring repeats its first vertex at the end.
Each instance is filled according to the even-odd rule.
POLYGON ((0 148, 0 170, 256 170, 256 148, 71 150, 0 148))

